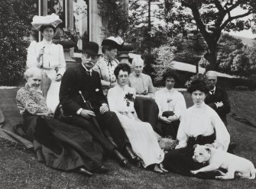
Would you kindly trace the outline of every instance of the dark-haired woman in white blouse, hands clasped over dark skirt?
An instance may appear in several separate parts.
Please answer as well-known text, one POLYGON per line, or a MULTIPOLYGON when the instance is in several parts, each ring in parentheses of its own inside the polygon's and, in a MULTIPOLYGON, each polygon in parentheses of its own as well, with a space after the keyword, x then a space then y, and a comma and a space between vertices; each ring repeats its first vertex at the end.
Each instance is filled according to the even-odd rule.
POLYGON ((160 136, 172 136, 176 139, 180 116, 186 110, 186 102, 183 94, 173 88, 177 82, 175 72, 165 72, 162 81, 165 88, 155 93, 155 101, 159 109, 155 131, 160 136))

